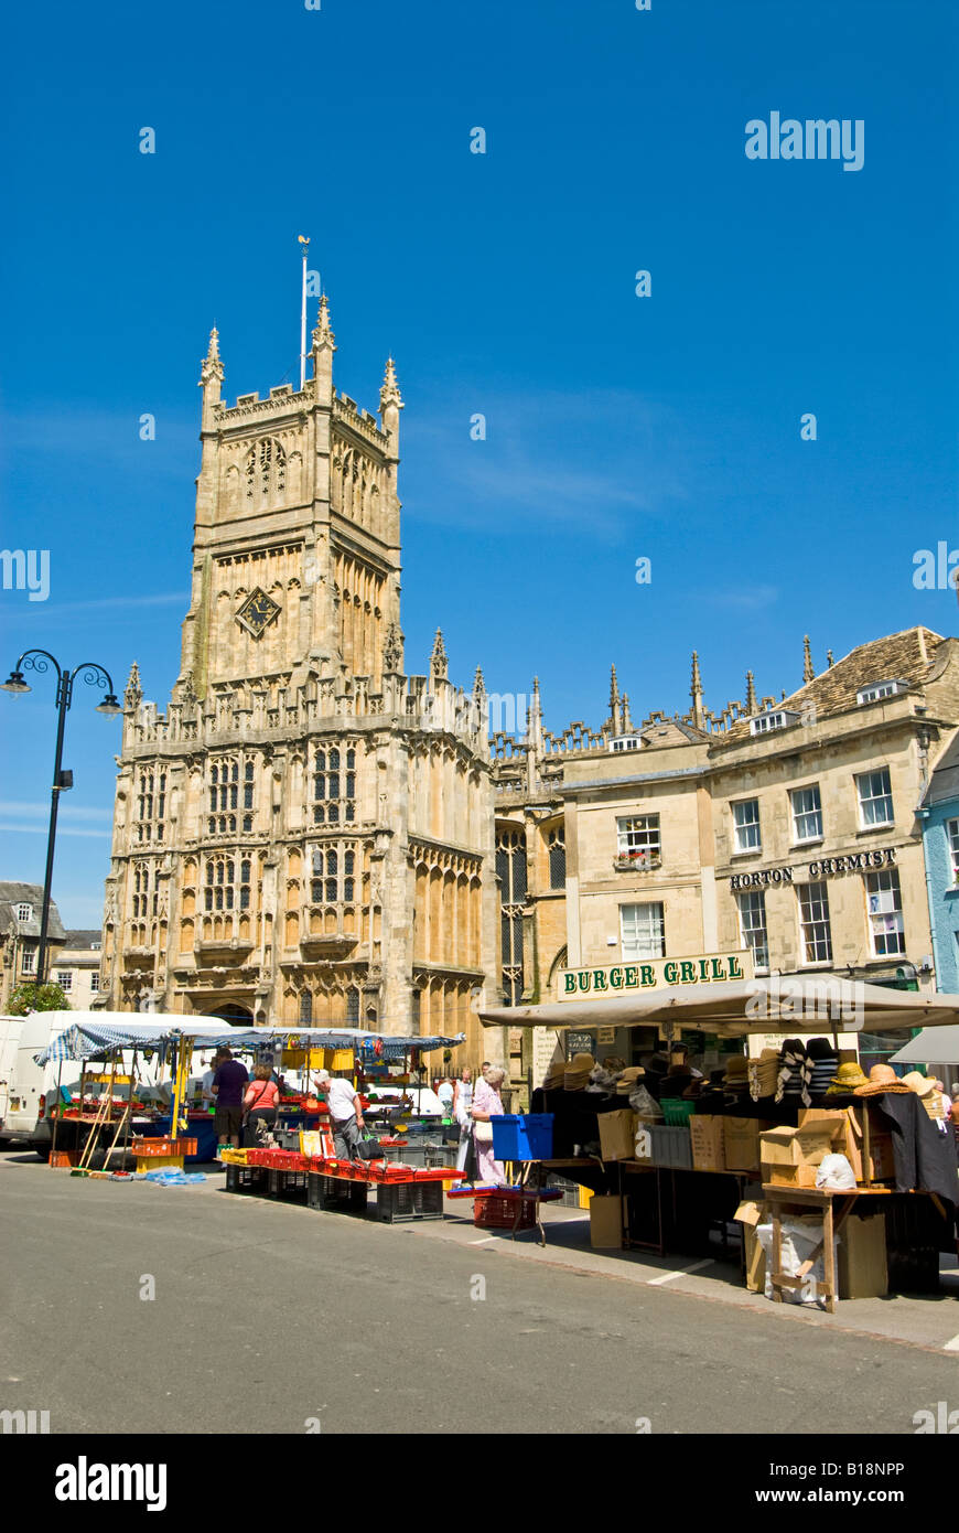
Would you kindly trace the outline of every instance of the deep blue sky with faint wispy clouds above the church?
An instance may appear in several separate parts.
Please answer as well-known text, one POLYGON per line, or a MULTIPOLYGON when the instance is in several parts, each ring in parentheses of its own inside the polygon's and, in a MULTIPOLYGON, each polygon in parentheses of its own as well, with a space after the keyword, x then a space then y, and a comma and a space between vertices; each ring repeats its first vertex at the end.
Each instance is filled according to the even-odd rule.
MULTIPOLYGON (((397 359, 411 670, 440 624, 455 679, 536 673, 561 730, 602 721, 611 661, 642 716, 688 707, 694 647, 722 708, 748 668, 792 690, 804 633, 820 667, 956 632, 954 593, 912 576, 959 546, 957 21, 953 0, 21 6, 2 541, 49 549, 51 595, 0 592, 5 671, 40 644, 123 687, 136 659, 164 705, 199 360, 216 320, 228 397, 296 377, 297 233, 337 386, 372 409, 397 359), (749 161, 774 110, 862 120, 862 169, 749 161)), ((0 694, 8 878, 43 875, 54 725, 49 684, 0 694)), ((78 696, 67 731, 54 892, 95 926, 119 725, 78 696)))

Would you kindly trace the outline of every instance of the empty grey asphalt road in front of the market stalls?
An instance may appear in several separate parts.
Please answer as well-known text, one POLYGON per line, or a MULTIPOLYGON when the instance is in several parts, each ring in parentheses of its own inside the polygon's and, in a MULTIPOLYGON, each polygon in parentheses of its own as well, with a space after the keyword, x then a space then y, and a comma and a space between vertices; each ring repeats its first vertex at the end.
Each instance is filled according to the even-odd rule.
POLYGON ((959 1407, 954 1355, 214 1180, 8 1153, 0 1219, 0 1409, 52 1433, 913 1433, 959 1407))

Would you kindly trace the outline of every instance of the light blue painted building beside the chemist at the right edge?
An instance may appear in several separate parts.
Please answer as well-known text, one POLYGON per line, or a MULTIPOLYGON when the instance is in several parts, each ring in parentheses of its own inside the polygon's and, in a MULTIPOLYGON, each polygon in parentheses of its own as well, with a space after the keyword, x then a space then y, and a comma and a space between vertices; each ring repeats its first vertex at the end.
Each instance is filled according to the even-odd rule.
POLYGON ((922 799, 922 851, 936 989, 959 993, 959 734, 922 799))

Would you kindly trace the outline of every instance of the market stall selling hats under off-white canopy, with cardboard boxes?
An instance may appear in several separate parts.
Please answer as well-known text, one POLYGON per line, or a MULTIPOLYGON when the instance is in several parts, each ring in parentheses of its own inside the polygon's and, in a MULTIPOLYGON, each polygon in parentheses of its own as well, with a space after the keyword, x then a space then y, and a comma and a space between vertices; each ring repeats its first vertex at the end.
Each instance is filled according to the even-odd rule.
POLYGON ((856 1035, 938 1029, 957 1016, 959 996, 823 975, 787 986, 778 977, 722 986, 692 977, 650 993, 481 1013, 492 1027, 553 1030, 532 1098, 552 1144, 519 1159, 527 1190, 556 1176, 584 1187, 601 1248, 715 1254, 738 1228, 749 1286, 826 1308, 840 1292, 832 1239, 827 1263, 823 1251, 833 1202, 846 1292, 931 1286, 938 1252, 954 1249, 954 1136, 930 1116, 922 1078, 918 1090, 889 1065, 862 1075, 856 1035), (642 1049, 604 1055, 601 1039, 613 1038, 620 1049, 640 1038, 642 1049), (763 1047, 746 1053, 748 1039, 763 1047), (800 1260, 800 1236, 817 1228, 800 1260), (872 1265, 856 1268, 864 1251, 872 1265), (757 1252, 769 1256, 769 1282, 757 1252))

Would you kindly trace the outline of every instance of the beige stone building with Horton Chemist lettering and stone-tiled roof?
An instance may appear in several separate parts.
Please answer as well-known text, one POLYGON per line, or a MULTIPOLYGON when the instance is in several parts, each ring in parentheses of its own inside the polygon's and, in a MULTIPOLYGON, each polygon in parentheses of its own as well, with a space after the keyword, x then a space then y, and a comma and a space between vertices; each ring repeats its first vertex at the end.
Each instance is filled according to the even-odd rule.
POLYGON ((959 644, 919 627, 714 740, 718 946, 751 947, 758 973, 931 989, 918 811, 957 724, 959 644))

